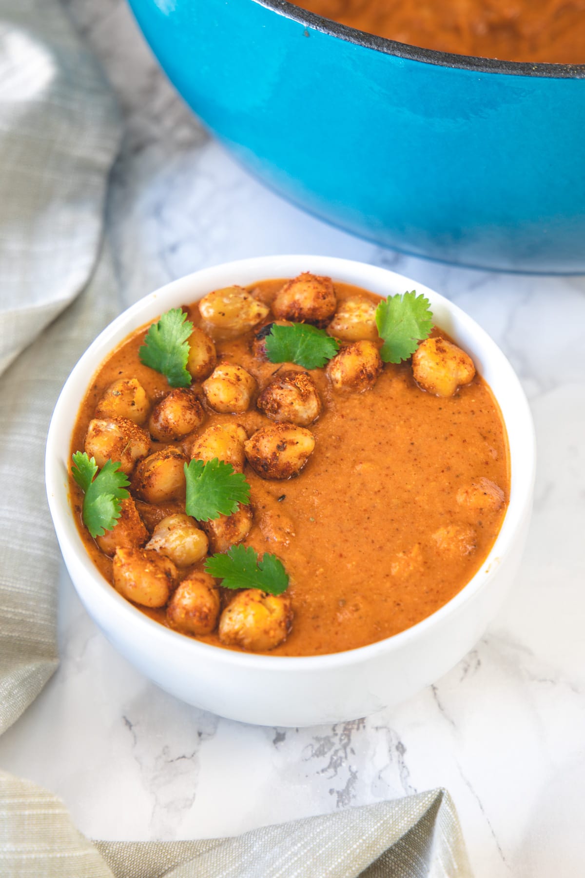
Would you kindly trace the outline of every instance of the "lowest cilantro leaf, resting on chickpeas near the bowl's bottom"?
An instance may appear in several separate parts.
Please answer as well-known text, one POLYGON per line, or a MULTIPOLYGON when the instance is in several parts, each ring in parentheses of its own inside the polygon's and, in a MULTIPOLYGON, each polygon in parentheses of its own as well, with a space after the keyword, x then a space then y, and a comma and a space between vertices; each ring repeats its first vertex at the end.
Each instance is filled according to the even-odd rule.
POLYGON ((282 561, 265 552, 261 561, 252 546, 232 546, 205 562, 210 576, 223 579, 224 588, 260 588, 268 594, 282 594, 289 587, 289 574, 282 561))

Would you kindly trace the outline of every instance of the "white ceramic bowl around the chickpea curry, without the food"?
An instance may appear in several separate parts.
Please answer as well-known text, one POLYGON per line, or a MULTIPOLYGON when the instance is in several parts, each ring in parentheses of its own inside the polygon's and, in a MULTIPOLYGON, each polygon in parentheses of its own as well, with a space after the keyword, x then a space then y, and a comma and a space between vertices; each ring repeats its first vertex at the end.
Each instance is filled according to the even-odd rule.
POLYGON ((132 665, 185 702, 246 723, 306 726, 367 716, 403 702, 455 665, 482 636, 517 572, 531 515, 535 440, 531 413, 510 363, 460 308, 422 284, 363 263, 322 256, 268 256, 182 277, 141 299, 96 338, 71 372, 46 443, 46 489, 61 551, 89 615, 132 665), (471 356, 501 407, 510 442, 510 505, 479 572, 452 601, 412 628, 360 649, 307 658, 249 655, 199 643, 151 621, 97 572, 68 498, 69 441, 99 365, 135 328, 168 308, 230 284, 301 271, 377 292, 416 289, 436 322, 471 356))

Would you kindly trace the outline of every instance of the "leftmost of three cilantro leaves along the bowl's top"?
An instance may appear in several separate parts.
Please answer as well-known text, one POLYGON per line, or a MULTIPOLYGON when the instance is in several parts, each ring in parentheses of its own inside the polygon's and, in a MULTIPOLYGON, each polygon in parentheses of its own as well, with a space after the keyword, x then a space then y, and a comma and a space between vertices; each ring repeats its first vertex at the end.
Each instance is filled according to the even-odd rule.
POLYGON ((189 387, 191 376, 186 369, 193 324, 181 308, 171 308, 153 323, 139 349, 140 363, 165 375, 171 387, 189 387))

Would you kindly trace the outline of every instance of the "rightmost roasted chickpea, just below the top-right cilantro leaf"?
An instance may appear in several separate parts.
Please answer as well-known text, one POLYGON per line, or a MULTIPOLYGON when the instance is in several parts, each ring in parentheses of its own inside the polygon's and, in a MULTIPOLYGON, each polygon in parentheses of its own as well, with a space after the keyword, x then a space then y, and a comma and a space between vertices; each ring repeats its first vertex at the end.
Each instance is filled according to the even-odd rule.
POLYGON ((419 387, 435 396, 453 396, 475 375, 474 361, 453 342, 427 338, 412 355, 412 374, 419 387))

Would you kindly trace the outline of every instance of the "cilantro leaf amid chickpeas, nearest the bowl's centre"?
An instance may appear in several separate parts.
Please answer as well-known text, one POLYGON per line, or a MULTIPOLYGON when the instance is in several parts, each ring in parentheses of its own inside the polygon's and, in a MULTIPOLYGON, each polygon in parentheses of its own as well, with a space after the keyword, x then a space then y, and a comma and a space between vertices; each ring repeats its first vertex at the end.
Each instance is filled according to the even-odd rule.
POLYGON ((198 522, 232 515, 238 512, 240 503, 250 502, 250 486, 244 473, 234 472, 232 464, 225 464, 217 457, 207 463, 194 459, 185 464, 185 478, 185 511, 198 522))

